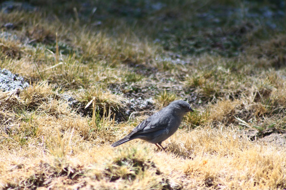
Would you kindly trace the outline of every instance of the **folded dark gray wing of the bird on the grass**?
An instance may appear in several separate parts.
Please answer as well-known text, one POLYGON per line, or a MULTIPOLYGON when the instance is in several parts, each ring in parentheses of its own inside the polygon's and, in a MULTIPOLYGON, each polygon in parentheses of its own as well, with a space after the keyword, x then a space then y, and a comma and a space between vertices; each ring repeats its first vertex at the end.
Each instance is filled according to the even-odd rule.
POLYGON ((145 134, 166 128, 168 126, 169 119, 170 116, 166 114, 164 110, 161 110, 140 123, 128 136, 133 134, 145 134))

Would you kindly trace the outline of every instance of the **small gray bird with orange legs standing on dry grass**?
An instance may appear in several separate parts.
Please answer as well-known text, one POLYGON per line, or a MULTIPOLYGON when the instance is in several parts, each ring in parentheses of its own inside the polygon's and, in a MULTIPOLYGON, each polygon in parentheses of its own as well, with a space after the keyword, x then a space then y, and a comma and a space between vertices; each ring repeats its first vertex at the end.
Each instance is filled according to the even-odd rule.
POLYGON ((173 101, 167 107, 148 117, 126 137, 114 142, 111 146, 115 147, 130 140, 140 138, 154 143, 158 148, 161 146, 164 150, 162 142, 176 132, 183 116, 187 112, 194 112, 189 103, 183 100, 173 101))

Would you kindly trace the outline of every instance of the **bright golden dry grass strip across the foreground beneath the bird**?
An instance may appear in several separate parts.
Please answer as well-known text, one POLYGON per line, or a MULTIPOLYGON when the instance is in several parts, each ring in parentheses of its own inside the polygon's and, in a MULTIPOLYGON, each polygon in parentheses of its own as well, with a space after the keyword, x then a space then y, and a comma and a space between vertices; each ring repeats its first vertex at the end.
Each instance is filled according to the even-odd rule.
POLYGON ((131 147, 125 144, 114 149, 106 144, 79 151, 73 130, 62 137, 58 134, 57 140, 52 140, 51 155, 33 158, 33 150, 25 148, 17 154, 29 150, 31 155, 15 159, 7 157, 12 152, 1 151, 6 155, 1 168, 9 170, 1 174, 2 185, 64 189, 285 188, 284 148, 250 142, 245 135, 229 129, 183 131, 167 140, 176 142, 177 150, 183 146, 188 151, 186 159, 172 151, 170 146, 174 144, 166 152, 156 151, 148 143, 131 142, 131 147))

